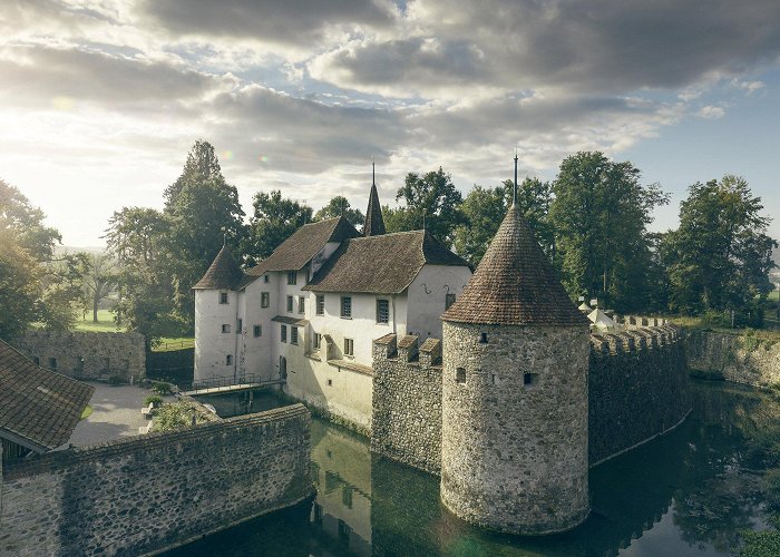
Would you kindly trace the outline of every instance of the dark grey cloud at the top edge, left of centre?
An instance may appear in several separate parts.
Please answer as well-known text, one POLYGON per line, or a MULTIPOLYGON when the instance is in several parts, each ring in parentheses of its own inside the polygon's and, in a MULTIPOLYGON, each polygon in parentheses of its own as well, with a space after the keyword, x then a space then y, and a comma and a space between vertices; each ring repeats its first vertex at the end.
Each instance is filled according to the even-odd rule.
POLYGON ((370 0, 148 0, 142 10, 181 35, 296 45, 321 40, 331 26, 388 27, 394 19, 391 6, 370 0))

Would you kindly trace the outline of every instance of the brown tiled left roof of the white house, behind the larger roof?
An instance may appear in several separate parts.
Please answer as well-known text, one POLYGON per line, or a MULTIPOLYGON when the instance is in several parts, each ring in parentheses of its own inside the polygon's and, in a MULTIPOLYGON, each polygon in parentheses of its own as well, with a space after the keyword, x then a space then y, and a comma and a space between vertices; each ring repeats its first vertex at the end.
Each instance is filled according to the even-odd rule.
POLYGON ((299 271, 309 263, 329 242, 343 242, 360 236, 349 221, 342 216, 301 226, 285 240, 269 258, 247 271, 260 276, 269 271, 299 271))

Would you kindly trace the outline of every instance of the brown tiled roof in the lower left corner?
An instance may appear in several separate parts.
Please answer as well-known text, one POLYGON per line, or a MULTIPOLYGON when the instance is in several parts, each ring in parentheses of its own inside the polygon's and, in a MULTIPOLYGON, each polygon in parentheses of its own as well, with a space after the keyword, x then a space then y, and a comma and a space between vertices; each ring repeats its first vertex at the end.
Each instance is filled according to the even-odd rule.
POLYGON ((70 439, 94 391, 0 341, 0 437, 10 433, 38 452, 55 449, 70 439))

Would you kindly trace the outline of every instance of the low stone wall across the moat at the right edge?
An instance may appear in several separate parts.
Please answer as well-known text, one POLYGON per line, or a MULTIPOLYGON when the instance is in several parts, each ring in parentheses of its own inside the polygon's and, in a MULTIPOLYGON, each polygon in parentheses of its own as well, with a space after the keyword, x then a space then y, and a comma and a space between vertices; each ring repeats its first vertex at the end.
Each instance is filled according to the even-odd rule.
POLYGON ((753 387, 780 383, 780 342, 748 335, 691 331, 685 339, 688 367, 753 387))

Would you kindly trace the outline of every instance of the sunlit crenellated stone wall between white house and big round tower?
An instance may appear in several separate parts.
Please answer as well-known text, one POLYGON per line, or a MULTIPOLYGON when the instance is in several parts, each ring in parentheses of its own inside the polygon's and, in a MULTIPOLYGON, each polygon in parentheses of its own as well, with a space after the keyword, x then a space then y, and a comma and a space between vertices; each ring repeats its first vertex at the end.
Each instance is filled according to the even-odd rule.
POLYGON ((439 473, 441 467, 441 343, 417 336, 373 344, 371 450, 439 473))

